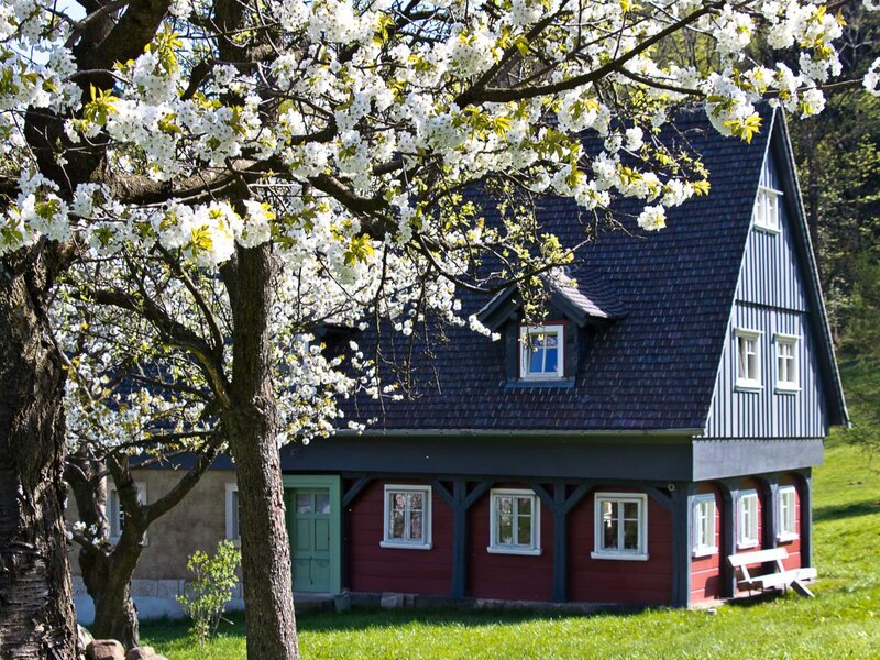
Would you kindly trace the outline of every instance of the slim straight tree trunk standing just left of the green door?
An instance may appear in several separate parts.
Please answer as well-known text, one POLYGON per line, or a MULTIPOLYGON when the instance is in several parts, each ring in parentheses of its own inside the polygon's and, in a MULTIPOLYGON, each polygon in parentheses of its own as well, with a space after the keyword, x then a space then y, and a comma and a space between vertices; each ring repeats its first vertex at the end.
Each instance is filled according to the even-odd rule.
POLYGON ((224 279, 235 340, 231 408, 222 420, 239 483, 248 657, 294 660, 299 649, 268 328, 272 248, 239 248, 224 279))

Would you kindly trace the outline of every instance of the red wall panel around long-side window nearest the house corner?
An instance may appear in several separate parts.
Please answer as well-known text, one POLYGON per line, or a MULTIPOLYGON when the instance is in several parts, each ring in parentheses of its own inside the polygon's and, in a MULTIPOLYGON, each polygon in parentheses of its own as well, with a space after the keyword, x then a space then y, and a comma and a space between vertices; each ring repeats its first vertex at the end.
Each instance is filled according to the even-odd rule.
POLYGON ((569 514, 569 598, 588 603, 668 604, 672 595, 672 517, 648 497, 648 561, 592 559, 594 493, 639 493, 602 486, 569 514))

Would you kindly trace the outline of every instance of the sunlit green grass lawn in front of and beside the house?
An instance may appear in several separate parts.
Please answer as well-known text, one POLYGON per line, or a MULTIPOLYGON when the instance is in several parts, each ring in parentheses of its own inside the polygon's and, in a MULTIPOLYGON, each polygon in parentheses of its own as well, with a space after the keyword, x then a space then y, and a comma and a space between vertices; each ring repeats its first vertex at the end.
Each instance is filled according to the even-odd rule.
MULTIPOLYGON (((880 658, 880 473, 833 438, 815 471, 815 600, 705 612, 565 616, 460 612, 307 613, 305 658, 880 658)), ((241 618, 199 648, 179 623, 146 624, 168 658, 244 658, 241 618)))

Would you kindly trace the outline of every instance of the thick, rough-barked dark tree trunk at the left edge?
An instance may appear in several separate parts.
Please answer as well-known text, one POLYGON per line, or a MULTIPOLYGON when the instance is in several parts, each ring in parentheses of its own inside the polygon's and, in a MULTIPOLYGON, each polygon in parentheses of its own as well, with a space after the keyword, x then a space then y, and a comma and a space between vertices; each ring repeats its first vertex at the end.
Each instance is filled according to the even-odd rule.
POLYGON ((63 480, 64 372, 44 296, 52 256, 0 261, 0 657, 76 657, 63 480))

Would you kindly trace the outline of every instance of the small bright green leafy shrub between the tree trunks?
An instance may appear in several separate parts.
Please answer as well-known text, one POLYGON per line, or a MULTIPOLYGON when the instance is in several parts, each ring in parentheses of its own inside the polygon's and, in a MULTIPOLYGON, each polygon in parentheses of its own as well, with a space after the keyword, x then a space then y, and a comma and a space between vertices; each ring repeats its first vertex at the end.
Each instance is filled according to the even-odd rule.
POLYGON ((239 582, 237 572, 240 564, 241 552, 231 541, 220 541, 215 554, 197 550, 187 561, 187 570, 196 578, 187 583, 186 593, 177 596, 177 602, 193 619, 189 631, 199 644, 206 644, 217 634, 223 610, 239 582))

